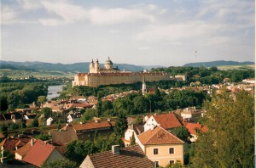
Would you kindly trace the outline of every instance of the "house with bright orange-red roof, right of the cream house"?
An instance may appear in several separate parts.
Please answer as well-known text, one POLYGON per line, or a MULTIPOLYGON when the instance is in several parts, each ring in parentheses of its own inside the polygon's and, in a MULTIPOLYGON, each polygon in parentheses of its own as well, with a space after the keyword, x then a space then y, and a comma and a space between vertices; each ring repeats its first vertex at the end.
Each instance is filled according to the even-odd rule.
POLYGON ((188 131, 191 135, 189 140, 192 143, 195 143, 195 141, 197 139, 197 131, 207 132, 207 126, 202 126, 199 123, 184 122, 183 125, 186 126, 186 128, 188 129, 188 131))

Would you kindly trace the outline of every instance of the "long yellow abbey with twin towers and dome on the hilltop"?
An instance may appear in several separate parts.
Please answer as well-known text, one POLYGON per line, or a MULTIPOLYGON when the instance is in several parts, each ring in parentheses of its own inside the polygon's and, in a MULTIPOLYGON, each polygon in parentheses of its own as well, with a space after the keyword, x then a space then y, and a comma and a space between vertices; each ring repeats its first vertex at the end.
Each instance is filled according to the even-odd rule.
POLYGON ((113 62, 107 59, 104 68, 100 67, 98 59, 90 62, 89 73, 78 73, 74 76, 72 86, 98 87, 100 85, 130 84, 138 81, 163 81, 170 80, 170 76, 164 72, 130 72, 113 68, 113 62))

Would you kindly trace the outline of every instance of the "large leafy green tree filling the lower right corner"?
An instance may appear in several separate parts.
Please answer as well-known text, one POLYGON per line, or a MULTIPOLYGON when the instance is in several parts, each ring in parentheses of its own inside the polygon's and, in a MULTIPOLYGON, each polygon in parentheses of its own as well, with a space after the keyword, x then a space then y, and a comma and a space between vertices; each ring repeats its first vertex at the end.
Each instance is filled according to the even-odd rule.
POLYGON ((254 101, 246 91, 235 97, 222 90, 204 105, 202 122, 208 132, 199 132, 190 151, 193 167, 253 167, 254 101), (218 123, 218 124, 216 124, 218 123))

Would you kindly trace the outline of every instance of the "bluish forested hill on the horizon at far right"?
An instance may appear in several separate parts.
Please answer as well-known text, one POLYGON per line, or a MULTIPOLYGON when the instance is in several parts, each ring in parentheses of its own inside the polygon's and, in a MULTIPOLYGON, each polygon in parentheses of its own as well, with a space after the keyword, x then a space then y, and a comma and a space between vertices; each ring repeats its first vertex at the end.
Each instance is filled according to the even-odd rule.
POLYGON ((222 65, 241 65, 241 64, 254 64, 253 62, 236 62, 236 61, 224 61, 224 60, 218 60, 218 61, 212 61, 212 62, 199 62, 199 63, 189 63, 184 64, 183 66, 192 66, 192 67, 200 67, 201 65, 205 67, 212 67, 212 66, 222 66, 222 65))

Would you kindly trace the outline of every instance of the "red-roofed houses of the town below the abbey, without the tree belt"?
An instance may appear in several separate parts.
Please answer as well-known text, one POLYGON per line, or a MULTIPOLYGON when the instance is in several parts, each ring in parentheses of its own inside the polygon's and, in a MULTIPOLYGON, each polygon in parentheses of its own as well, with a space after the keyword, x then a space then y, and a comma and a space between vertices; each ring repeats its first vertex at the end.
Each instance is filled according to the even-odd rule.
MULTIPOLYGON (((173 89, 203 91, 212 97, 213 92, 223 92, 223 88, 233 95, 240 90, 246 90, 253 95, 255 81, 245 79, 234 85, 230 79, 225 78, 223 83, 218 85, 201 86, 200 83, 191 83, 190 87, 157 89, 165 94, 173 92, 173 89)), ((31 104, 30 108, 14 109, 9 113, 0 114, 0 126, 2 128, 8 126, 0 133, 1 163, 20 160, 20 165, 41 167, 53 160, 65 160, 69 143, 79 140, 95 141, 97 137, 108 137, 119 125, 117 124, 119 117, 116 116, 108 118, 93 116, 92 120, 81 120, 86 110, 97 109, 99 101, 113 103, 129 94, 139 92, 144 96, 155 94, 154 89, 143 88, 142 91, 131 90, 110 94, 100 100, 95 96, 73 96, 48 100, 42 104, 31 104), (50 114, 46 116, 40 113, 44 109, 49 109, 50 114), (25 125, 26 128, 21 132, 12 129, 12 126, 20 125, 25 125), (42 134, 44 136, 38 138, 38 135, 42 134)), ((79 167, 186 165, 189 161, 190 143, 196 143, 200 132, 208 131, 207 126, 200 123, 206 113, 204 109, 186 107, 128 115, 125 117, 126 129, 121 135, 124 146, 113 144, 109 151, 88 154, 79 163, 79 167), (187 130, 189 137, 182 139, 177 134, 177 129, 187 130)))

